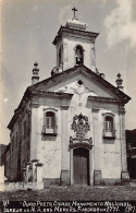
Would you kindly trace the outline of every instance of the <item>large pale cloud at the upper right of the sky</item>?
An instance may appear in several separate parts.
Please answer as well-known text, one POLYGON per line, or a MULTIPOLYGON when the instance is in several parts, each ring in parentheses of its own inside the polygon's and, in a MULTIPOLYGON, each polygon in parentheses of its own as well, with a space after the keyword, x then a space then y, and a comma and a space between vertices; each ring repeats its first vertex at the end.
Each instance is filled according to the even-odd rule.
POLYGON ((124 40, 128 40, 131 47, 136 47, 135 0, 115 1, 116 8, 104 20, 108 47, 124 40))

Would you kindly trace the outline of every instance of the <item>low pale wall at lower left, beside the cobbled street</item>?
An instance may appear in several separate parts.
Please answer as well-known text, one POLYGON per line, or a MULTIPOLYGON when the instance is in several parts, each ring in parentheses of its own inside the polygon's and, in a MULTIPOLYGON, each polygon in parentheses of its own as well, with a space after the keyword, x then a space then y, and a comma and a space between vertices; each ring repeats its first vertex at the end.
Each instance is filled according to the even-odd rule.
POLYGON ((44 182, 0 182, 0 191, 44 190, 44 182))

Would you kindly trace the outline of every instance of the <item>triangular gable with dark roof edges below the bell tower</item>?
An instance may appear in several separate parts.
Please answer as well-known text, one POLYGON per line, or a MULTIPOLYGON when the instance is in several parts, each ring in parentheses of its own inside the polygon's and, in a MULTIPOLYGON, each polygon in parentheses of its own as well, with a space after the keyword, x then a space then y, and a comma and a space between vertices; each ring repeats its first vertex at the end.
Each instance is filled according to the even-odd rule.
POLYGON ((90 96, 101 96, 110 98, 123 98, 127 103, 131 98, 122 91, 110 84, 108 81, 96 74, 85 66, 76 66, 72 69, 55 74, 47 80, 29 86, 30 91, 78 93, 86 92, 90 96), (77 82, 82 81, 79 86, 77 82))

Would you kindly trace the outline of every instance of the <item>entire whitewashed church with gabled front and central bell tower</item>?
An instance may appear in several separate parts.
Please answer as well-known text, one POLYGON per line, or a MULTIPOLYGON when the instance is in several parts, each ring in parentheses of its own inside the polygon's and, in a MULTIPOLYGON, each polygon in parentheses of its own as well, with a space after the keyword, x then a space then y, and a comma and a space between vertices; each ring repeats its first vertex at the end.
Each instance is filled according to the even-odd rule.
POLYGON ((11 130, 11 180, 21 180, 28 162, 42 163, 46 184, 106 185, 128 180, 125 104, 131 99, 96 68, 98 33, 75 16, 53 40, 57 68, 33 85, 14 111, 11 130), (35 159, 35 161, 34 161, 35 159))

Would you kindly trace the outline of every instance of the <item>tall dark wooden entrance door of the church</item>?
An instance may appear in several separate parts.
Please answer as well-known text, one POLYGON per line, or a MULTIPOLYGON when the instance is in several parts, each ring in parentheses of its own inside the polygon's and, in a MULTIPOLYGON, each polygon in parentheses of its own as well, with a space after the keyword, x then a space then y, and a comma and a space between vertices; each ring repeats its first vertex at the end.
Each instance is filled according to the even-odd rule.
POLYGON ((75 185, 89 185, 89 151, 83 147, 73 151, 75 185))

